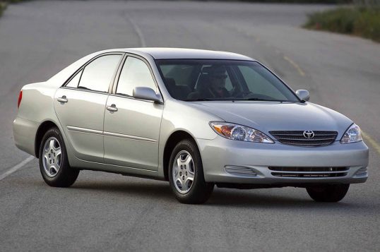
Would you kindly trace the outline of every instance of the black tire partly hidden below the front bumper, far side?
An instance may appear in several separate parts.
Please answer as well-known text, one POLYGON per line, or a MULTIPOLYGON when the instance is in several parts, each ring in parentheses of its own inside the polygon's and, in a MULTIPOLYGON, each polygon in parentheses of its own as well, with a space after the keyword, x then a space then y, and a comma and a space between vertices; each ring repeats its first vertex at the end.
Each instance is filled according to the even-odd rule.
POLYGON ((309 196, 317 202, 338 202, 345 198, 350 184, 321 185, 307 187, 309 196))

